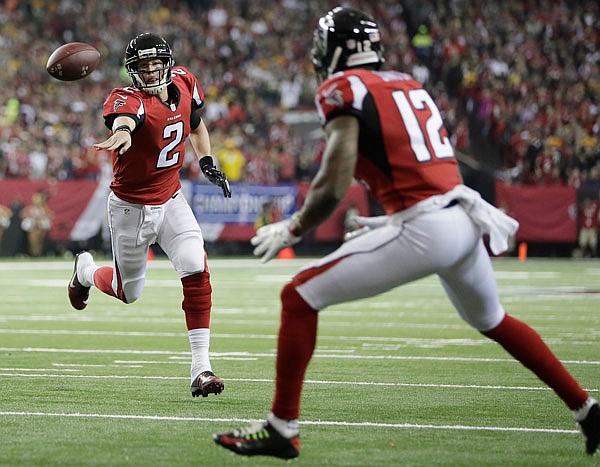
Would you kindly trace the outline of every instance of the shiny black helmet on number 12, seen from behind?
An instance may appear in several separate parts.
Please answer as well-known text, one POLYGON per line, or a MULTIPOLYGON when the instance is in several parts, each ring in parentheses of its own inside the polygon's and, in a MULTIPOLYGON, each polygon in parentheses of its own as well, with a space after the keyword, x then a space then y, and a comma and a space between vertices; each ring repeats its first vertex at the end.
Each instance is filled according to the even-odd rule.
POLYGON ((311 61, 320 79, 364 65, 379 69, 385 61, 379 26, 372 16, 355 8, 337 7, 319 19, 311 61))

